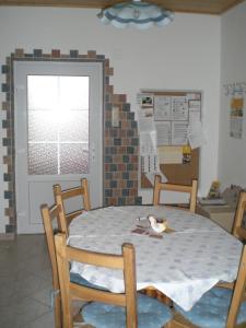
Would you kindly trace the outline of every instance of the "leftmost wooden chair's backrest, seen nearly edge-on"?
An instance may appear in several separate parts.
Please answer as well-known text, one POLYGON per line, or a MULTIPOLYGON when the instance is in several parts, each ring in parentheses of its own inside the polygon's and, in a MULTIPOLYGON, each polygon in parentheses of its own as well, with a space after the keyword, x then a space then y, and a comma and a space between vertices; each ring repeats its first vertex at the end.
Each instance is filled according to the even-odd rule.
POLYGON ((60 284, 58 277, 58 267, 57 267, 57 257, 56 257, 56 247, 55 247, 55 224, 56 221, 58 231, 60 230, 59 224, 59 212, 60 208, 57 204, 48 208, 47 204, 40 206, 42 218, 44 222, 46 241, 48 246, 49 258, 51 261, 51 270, 52 270, 52 297, 55 301, 55 325, 56 328, 62 327, 61 319, 61 296, 60 296, 60 284))

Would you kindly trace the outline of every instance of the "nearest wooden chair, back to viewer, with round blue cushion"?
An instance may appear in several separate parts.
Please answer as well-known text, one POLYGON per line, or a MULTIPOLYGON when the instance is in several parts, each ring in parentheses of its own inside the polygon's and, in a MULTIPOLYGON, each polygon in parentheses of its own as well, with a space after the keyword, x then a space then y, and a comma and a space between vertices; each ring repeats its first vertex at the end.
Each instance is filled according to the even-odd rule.
POLYGON ((84 321, 95 327, 157 328, 164 325, 166 325, 164 327, 169 327, 168 323, 172 319, 172 313, 167 306, 145 295, 137 296, 134 248, 131 244, 122 245, 121 255, 109 255, 67 246, 65 234, 56 235, 55 243, 61 286, 62 311, 65 314, 63 328, 73 327, 71 302, 74 298, 89 302, 96 301, 86 304, 82 309, 84 321), (117 294, 89 286, 75 285, 69 281, 70 261, 122 270, 125 292, 117 294), (137 308, 139 311, 138 314, 137 308), (153 313, 150 313, 151 311, 153 313), (150 320, 153 320, 152 326, 149 325, 150 320))

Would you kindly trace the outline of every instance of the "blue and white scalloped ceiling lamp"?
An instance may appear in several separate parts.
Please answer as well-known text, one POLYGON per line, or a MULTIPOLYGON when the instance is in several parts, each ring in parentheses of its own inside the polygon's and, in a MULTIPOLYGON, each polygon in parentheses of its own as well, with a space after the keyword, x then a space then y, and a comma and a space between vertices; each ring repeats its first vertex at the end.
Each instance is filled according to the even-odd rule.
POLYGON ((136 26, 140 30, 151 26, 165 26, 174 20, 174 13, 141 0, 116 3, 102 9, 97 14, 101 22, 116 27, 136 26))

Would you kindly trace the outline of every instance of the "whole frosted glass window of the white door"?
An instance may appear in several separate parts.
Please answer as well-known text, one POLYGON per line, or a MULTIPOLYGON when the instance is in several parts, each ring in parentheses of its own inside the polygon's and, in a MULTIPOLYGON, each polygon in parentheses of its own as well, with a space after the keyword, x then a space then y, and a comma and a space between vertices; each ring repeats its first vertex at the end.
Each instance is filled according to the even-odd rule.
POLYGON ((28 75, 28 172, 89 172, 89 77, 28 75))

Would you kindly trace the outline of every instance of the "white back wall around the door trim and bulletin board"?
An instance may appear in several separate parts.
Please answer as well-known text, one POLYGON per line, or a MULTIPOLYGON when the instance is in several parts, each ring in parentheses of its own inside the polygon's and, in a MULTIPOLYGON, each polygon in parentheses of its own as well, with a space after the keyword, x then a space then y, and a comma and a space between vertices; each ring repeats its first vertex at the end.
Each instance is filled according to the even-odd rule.
MULTIPOLYGON (((80 54, 96 50, 110 59, 115 93, 127 93, 132 110, 140 89, 201 90, 207 143, 201 151, 200 194, 204 195, 211 180, 216 178, 218 168, 220 17, 176 14, 175 21, 164 28, 137 31, 104 26, 96 17, 97 12, 1 7, 0 62, 4 63, 15 48, 24 48, 25 52, 34 48, 44 52, 60 49, 62 54, 70 49, 79 49, 80 54)), ((3 95, 1 97, 3 99, 3 95)), ((150 195, 143 196, 148 201, 150 195)), ((3 218, 2 197, 0 206, 0 218, 3 218)), ((1 219, 0 232, 4 223, 1 219)))

